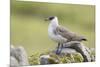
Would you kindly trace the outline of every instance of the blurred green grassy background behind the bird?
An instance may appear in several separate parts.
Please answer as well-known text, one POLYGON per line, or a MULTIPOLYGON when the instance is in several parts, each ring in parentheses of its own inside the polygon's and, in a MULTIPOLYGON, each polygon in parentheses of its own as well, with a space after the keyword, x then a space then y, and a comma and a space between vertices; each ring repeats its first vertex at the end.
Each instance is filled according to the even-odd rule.
POLYGON ((57 43, 48 37, 48 16, 57 16, 61 25, 88 39, 86 46, 95 47, 94 5, 16 0, 11 0, 11 44, 23 46, 28 55, 53 50, 57 43))

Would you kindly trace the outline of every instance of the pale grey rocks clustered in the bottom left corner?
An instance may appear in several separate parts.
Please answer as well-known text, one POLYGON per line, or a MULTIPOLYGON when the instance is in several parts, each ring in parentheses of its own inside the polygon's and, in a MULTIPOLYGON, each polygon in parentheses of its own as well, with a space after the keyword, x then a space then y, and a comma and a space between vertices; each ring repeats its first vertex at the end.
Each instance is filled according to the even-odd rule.
POLYGON ((11 65, 13 63, 16 63, 16 61, 18 61, 19 66, 29 65, 27 53, 26 53, 25 49, 22 46, 19 46, 17 48, 11 46, 10 55, 12 57, 11 58, 11 65))

